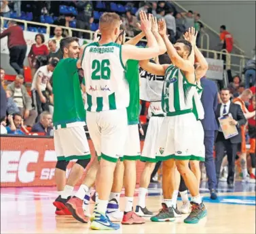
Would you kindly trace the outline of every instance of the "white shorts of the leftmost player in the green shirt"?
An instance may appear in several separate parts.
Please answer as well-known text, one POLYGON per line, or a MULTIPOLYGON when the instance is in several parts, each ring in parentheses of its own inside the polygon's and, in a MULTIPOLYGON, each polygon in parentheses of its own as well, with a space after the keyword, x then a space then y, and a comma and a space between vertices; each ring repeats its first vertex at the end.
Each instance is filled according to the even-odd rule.
POLYGON ((90 147, 84 126, 54 129, 54 147, 58 160, 90 158, 90 147))

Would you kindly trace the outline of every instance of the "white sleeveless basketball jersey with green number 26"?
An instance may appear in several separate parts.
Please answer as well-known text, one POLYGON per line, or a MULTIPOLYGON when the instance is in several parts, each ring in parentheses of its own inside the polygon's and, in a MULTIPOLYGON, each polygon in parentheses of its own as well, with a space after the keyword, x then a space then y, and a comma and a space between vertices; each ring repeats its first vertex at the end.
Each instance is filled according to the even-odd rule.
POLYGON ((127 108, 130 96, 122 45, 91 43, 81 60, 86 81, 86 110, 101 112, 127 108))

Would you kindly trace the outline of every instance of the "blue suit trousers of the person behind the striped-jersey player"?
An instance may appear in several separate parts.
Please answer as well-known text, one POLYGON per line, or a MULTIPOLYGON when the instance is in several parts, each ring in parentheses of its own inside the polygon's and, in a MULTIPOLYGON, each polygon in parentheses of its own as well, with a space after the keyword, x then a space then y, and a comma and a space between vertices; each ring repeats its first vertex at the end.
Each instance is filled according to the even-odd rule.
POLYGON ((208 177, 208 188, 216 189, 217 187, 217 176, 215 170, 215 162, 213 159, 213 145, 215 142, 215 131, 205 130, 204 131, 204 147, 205 147, 205 169, 208 177))

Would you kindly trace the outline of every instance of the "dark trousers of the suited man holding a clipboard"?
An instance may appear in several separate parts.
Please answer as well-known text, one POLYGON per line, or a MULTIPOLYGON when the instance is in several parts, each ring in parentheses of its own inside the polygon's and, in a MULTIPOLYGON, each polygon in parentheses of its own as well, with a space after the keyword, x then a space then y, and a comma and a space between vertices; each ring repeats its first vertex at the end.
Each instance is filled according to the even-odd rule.
POLYGON ((217 183, 219 183, 219 177, 221 174, 221 163, 224 158, 224 151, 227 151, 227 162, 228 162, 228 176, 227 183, 234 183, 234 174, 235 174, 235 161, 236 161, 236 152, 238 149, 237 143, 231 143, 230 139, 225 139, 223 133, 218 132, 216 143, 215 143, 215 168, 217 175, 217 183))

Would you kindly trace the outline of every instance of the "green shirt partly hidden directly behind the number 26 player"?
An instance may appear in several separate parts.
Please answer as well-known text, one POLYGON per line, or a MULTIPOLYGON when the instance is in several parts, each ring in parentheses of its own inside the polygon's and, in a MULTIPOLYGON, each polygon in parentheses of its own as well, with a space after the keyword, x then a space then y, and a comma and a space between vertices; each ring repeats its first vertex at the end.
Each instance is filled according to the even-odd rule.
POLYGON ((128 124, 139 124, 139 61, 126 62, 126 79, 129 85, 130 102, 127 108, 128 124))

